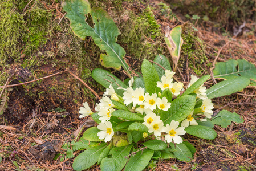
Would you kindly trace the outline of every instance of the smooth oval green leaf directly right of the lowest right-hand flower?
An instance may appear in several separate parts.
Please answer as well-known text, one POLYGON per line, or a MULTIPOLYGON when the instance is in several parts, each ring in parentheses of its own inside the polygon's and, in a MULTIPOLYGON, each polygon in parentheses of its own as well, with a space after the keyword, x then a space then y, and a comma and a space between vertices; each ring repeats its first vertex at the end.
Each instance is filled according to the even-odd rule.
POLYGON ((214 129, 202 125, 190 125, 189 127, 185 128, 185 131, 190 135, 206 140, 213 140, 217 136, 214 129))

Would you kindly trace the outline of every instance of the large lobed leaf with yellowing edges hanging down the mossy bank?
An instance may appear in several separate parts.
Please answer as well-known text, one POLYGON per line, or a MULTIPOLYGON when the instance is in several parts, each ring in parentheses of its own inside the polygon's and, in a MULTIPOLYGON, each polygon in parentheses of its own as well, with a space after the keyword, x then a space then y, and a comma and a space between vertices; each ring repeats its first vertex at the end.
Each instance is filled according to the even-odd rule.
POLYGON ((124 48, 116 43, 120 31, 108 13, 99 7, 91 9, 87 0, 66 0, 62 6, 67 12, 66 17, 70 19, 74 34, 83 40, 91 36, 94 43, 107 53, 100 55, 101 64, 116 70, 120 70, 122 66, 129 74, 129 66, 124 60, 124 48), (94 22, 93 28, 86 22, 89 13, 94 22))

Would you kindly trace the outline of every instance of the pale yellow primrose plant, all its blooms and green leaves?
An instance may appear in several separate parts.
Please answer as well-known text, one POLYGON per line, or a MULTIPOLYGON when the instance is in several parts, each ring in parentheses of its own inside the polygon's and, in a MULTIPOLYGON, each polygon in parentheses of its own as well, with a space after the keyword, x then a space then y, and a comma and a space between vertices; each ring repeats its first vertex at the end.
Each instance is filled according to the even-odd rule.
POLYGON ((88 128, 78 142, 68 145, 73 151, 86 149, 75 158, 75 170, 90 168, 96 162, 101 170, 143 170, 152 158, 189 161, 196 148, 184 139, 186 133, 213 140, 217 136, 214 124, 227 127, 231 121, 243 122, 229 111, 212 117, 210 99, 223 92, 234 93, 245 84, 223 81, 206 89, 203 84, 210 76, 192 75, 184 88, 182 82, 174 82, 175 72, 165 56, 156 56, 154 62, 144 60, 142 75, 137 73, 125 82, 108 71, 92 71, 92 78, 107 89, 96 104, 96 113, 87 102, 80 107, 79 117, 91 115, 99 125, 88 128))

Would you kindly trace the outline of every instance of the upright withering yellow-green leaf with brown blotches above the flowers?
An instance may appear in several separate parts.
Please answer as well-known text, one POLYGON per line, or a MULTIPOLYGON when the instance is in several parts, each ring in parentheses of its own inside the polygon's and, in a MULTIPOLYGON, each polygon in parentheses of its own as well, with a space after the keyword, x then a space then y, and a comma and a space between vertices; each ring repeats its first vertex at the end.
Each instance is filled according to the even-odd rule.
POLYGON ((172 28, 169 31, 169 27, 165 31, 165 43, 172 56, 172 61, 174 63, 174 71, 177 68, 178 59, 180 59, 181 46, 183 44, 183 39, 181 38, 181 25, 172 28))

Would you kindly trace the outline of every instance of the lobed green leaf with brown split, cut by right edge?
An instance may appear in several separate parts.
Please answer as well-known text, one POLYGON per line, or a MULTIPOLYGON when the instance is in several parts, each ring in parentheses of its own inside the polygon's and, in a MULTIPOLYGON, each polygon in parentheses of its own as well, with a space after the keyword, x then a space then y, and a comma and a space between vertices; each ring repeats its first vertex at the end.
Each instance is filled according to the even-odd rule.
POLYGON ((216 63, 215 69, 213 70, 213 76, 214 78, 224 79, 243 76, 247 79, 256 80, 256 68, 254 64, 249 63, 245 59, 230 59, 227 60, 227 62, 216 63))

